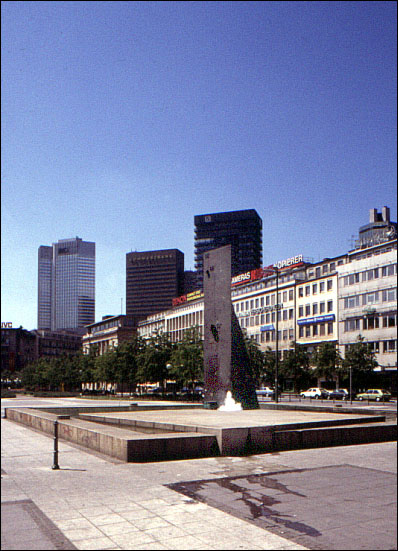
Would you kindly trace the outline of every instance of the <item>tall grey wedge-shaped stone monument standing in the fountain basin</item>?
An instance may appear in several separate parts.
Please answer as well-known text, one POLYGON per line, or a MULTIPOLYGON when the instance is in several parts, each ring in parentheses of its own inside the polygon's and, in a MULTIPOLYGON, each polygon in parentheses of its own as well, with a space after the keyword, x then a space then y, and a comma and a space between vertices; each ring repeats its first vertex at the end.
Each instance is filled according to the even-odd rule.
POLYGON ((258 408, 243 335, 231 302, 231 245, 204 254, 205 403, 222 405, 230 390, 243 409, 258 408))

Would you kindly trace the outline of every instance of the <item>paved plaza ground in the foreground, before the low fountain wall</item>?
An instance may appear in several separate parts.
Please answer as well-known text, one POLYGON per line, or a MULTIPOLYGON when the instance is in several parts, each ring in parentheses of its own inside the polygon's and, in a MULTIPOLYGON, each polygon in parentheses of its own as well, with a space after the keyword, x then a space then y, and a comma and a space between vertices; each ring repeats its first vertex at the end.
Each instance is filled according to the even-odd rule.
POLYGON ((394 443, 126 464, 60 441, 60 470, 53 471, 51 438, 4 419, 1 429, 4 550, 393 549, 394 541, 396 548, 394 443), (344 465, 354 469, 344 470, 344 465), (333 543, 322 547, 319 534, 324 536, 325 531, 319 522, 327 516, 325 496, 313 494, 308 499, 307 486, 315 478, 322 484, 326 474, 337 477, 340 485, 343 471, 345 486, 339 494, 326 497, 329 507, 341 509, 345 516, 344 529, 338 515, 331 528, 336 533, 353 533, 353 545, 339 547, 337 538, 335 547, 333 543), (365 508, 366 514, 358 517, 344 498, 349 496, 350 480, 363 481, 368 474, 376 477, 373 482, 365 479, 373 509, 365 508), (234 496, 232 482, 238 489, 234 496), (372 492, 369 484, 373 483, 384 484, 387 496, 376 488, 372 492), (173 489, 167 485, 174 485, 173 489), (249 515, 256 500, 271 503, 267 518, 249 515), (312 522, 314 510, 319 511, 318 528, 303 530, 312 522), (369 545, 369 534, 364 533, 363 540, 360 536, 366 527, 369 534, 387 534, 381 543, 384 547, 363 546, 365 541, 369 545))

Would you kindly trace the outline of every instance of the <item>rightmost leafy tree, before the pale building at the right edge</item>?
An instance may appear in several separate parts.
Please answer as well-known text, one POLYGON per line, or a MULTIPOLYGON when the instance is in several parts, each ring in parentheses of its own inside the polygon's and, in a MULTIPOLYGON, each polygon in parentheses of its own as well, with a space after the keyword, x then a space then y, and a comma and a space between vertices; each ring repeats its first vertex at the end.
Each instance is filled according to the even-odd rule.
POLYGON ((347 378, 351 369, 353 387, 355 389, 367 388, 372 384, 373 371, 377 366, 378 362, 370 344, 365 342, 362 335, 359 335, 357 342, 351 344, 346 350, 340 372, 343 377, 347 378))

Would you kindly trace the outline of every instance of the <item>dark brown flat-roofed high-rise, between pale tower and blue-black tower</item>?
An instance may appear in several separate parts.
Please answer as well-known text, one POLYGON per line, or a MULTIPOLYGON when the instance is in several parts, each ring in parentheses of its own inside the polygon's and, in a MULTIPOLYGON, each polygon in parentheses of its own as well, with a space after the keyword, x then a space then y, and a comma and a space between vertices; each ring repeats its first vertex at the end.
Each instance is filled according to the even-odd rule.
POLYGON ((184 253, 178 249, 126 254, 126 314, 143 319, 167 310, 184 292, 184 253))

